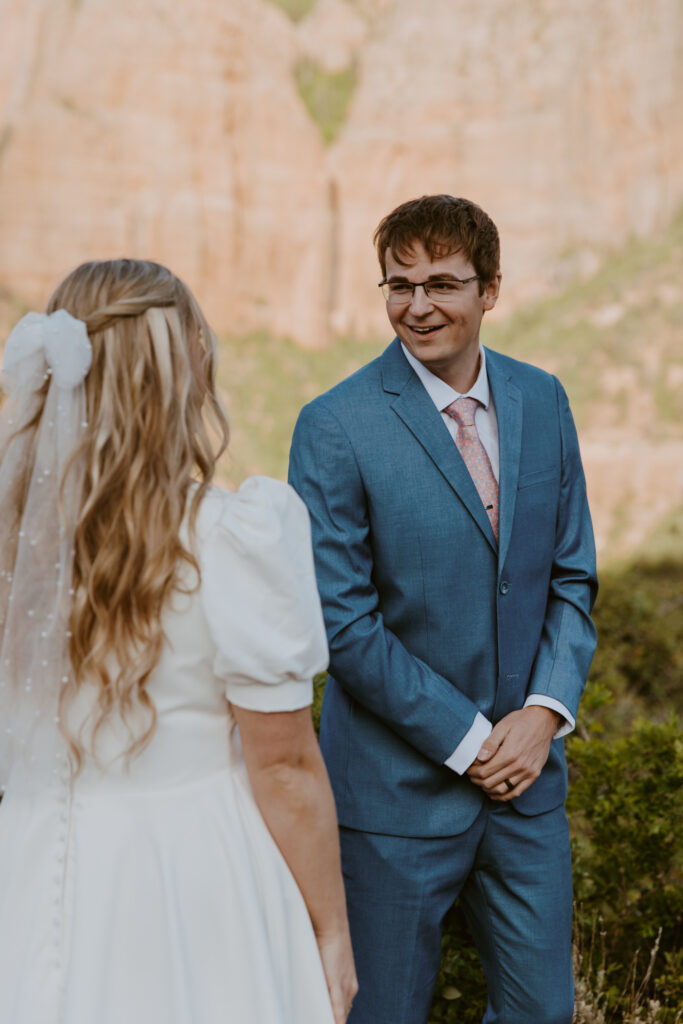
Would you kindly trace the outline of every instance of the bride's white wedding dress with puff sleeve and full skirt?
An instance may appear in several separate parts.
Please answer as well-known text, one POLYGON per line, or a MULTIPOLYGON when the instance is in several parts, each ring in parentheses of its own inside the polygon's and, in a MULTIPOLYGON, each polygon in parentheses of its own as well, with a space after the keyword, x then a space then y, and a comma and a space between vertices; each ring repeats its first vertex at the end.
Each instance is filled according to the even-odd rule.
MULTIPOLYGON (((263 477, 214 488, 195 551, 201 586, 163 616, 146 750, 127 768, 112 721, 99 767, 42 792, 10 779, 0 804, 0 1024, 333 1022, 226 700, 310 703, 327 645, 307 513, 263 477)), ((86 735, 92 698, 82 689, 70 719, 86 735)))

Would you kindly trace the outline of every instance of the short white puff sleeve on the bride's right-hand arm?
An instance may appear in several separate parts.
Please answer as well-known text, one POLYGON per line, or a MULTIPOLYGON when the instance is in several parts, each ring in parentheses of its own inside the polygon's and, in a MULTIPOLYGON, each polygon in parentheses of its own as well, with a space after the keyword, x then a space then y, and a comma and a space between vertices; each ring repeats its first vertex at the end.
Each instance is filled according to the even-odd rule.
POLYGON ((328 665, 307 509, 263 476, 220 498, 200 559, 214 672, 239 708, 305 708, 328 665))

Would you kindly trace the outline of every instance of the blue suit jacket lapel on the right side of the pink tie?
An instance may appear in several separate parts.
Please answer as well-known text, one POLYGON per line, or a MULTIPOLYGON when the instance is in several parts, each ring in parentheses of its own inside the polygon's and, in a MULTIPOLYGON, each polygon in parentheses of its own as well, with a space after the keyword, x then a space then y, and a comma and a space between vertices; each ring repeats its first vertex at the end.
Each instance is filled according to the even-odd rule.
POLYGON ((498 442, 501 456, 499 479, 499 565, 505 564, 512 534, 519 477, 519 456, 522 439, 522 393, 505 372, 496 352, 486 349, 488 385, 494 396, 498 420, 498 442))

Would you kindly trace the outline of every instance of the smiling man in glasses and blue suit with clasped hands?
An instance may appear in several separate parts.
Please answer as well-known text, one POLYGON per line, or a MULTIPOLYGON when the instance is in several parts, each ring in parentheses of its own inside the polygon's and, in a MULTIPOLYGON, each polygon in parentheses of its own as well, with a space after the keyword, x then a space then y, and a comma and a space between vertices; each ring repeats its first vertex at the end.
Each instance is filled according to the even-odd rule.
POLYGON ((302 410, 290 466, 330 643, 349 1024, 426 1024, 456 899, 486 1024, 570 1024, 561 737, 596 592, 577 434, 554 377, 480 346, 501 286, 483 210, 425 196, 375 242, 396 337, 302 410))

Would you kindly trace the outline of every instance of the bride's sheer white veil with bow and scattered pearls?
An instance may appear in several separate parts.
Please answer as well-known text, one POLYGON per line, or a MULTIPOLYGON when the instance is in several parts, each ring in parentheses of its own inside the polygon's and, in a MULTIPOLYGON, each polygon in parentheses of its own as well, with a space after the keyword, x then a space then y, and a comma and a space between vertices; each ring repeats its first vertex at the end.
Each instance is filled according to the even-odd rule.
POLYGON ((69 762, 59 693, 70 679, 74 529, 83 466, 71 457, 86 427, 84 379, 92 350, 82 321, 66 310, 28 313, 5 345, 0 411, 0 790, 44 784, 69 762), (25 429, 40 409, 37 427, 25 429), (16 520, 15 492, 27 481, 16 520), (71 465, 70 465, 71 463, 71 465), (59 488, 65 472, 61 495, 59 488))

